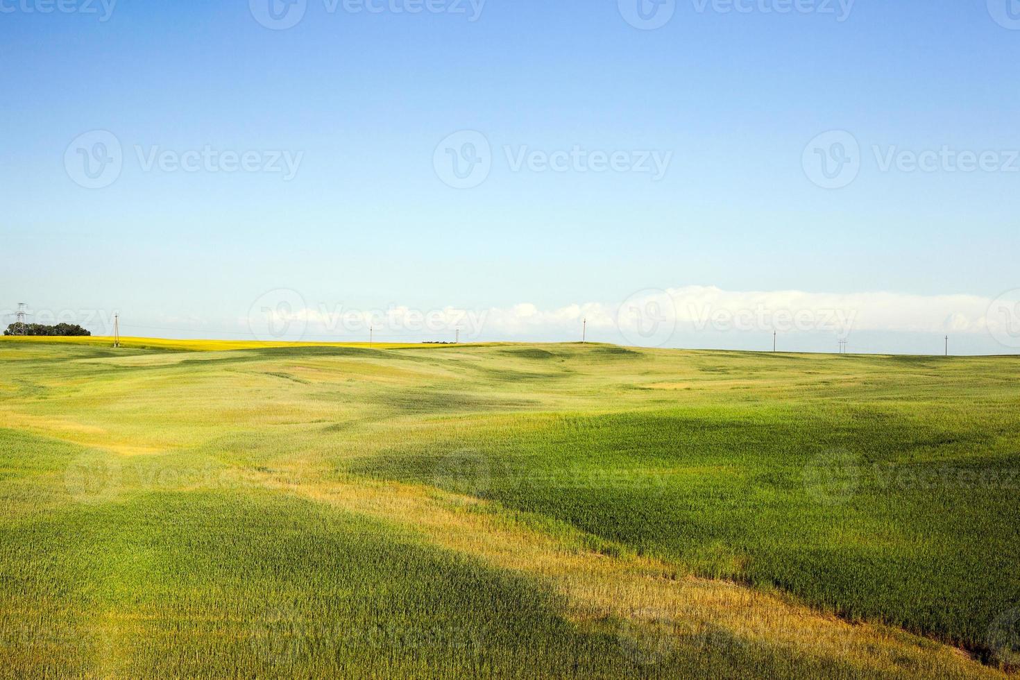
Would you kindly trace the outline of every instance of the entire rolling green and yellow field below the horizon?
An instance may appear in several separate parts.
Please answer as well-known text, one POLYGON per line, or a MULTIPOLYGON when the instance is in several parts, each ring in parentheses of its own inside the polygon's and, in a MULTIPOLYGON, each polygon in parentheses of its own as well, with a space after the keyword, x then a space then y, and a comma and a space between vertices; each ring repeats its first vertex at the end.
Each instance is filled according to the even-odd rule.
POLYGON ((2 677, 1003 677, 1020 358, 0 341, 2 677))

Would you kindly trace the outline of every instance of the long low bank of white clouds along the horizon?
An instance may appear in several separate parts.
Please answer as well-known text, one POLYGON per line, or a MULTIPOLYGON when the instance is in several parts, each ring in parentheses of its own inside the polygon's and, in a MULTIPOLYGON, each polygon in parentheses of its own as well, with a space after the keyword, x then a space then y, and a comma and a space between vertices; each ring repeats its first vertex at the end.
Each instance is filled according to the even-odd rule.
POLYGON ((586 302, 541 309, 530 303, 489 309, 444 307, 421 310, 394 305, 360 310, 336 303, 310 303, 295 291, 265 294, 246 318, 261 339, 580 339, 639 347, 741 349, 737 337, 783 336, 848 339, 854 333, 952 334, 1020 348, 1020 291, 998 299, 971 295, 902 293, 808 293, 723 291, 688 285, 644 290, 622 302, 586 302))

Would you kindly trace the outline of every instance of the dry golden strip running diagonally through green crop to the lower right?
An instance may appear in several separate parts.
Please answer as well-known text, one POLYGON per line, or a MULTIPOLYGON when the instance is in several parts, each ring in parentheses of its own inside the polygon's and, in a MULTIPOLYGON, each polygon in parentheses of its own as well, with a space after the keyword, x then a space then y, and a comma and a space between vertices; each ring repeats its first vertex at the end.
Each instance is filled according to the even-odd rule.
MULTIPOLYGON (((284 485, 286 486, 286 484, 284 485)), ((277 484, 278 487, 278 484, 277 484)), ((850 624, 777 595, 677 573, 666 563, 607 556, 528 526, 492 504, 435 489, 363 480, 290 486, 305 498, 387 520, 448 550, 551 584, 581 623, 620 619, 672 630, 677 645, 706 635, 795 655, 849 662, 865 673, 902 677, 1006 677, 960 649, 873 624, 850 624)), ((692 642, 694 640, 694 642, 692 642)))

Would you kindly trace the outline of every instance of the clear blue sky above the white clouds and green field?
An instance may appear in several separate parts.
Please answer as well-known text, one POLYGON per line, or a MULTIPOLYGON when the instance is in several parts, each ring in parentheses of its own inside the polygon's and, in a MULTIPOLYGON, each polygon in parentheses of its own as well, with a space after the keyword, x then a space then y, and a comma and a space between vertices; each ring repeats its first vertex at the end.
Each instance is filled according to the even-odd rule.
MULTIPOLYGON (((979 312, 1020 289, 1017 3, 687 0, 642 30, 628 0, 431 0, 420 13, 414 0, 307 0, 272 30, 260 0, 63 1, 44 13, 47 0, 0 0, 0 310, 117 310, 134 334, 242 337, 253 305, 285 290, 319 315, 495 309, 504 320, 478 338, 574 339, 573 306, 612 317, 639 291, 713 286, 844 296, 826 304, 864 316, 903 306, 909 322, 850 332, 860 351, 938 351, 945 333, 960 352, 1016 351, 979 312), (73 169, 93 130, 120 147, 99 189, 73 169), (469 189, 436 161, 461 130, 489 145, 469 189), (829 130, 859 147, 837 189, 805 160, 829 130), (207 148, 254 153, 255 169, 173 165, 207 148), (575 148, 630 167, 536 169, 575 148), (942 149, 949 160, 912 169, 912 154, 942 149), (146 164, 164 152, 166 169, 146 164), (991 155, 962 171, 961 152, 991 155), (653 153, 669 158, 661 178, 633 167, 653 153), (299 159, 293 177, 267 171, 277 154, 299 159), (504 313, 524 303, 553 320, 504 313)), ((619 330, 593 323, 598 339, 619 330)), ((312 319, 307 333, 342 331, 312 319)), ((770 336, 681 319, 662 344, 770 336)), ((834 337, 792 331, 788 346, 832 351, 834 337)))

